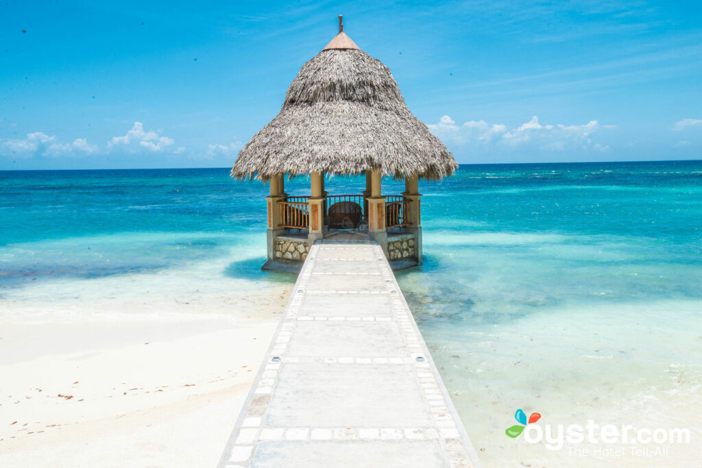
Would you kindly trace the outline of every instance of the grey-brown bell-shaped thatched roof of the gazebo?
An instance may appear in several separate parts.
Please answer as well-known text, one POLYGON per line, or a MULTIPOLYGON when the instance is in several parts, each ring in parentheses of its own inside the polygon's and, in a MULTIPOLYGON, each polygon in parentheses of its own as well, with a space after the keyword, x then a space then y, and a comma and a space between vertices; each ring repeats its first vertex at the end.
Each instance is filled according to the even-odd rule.
POLYGON ((232 176, 379 168, 395 178, 440 179, 458 167, 442 142, 407 108, 390 69, 343 30, 305 63, 283 109, 239 152, 232 176))

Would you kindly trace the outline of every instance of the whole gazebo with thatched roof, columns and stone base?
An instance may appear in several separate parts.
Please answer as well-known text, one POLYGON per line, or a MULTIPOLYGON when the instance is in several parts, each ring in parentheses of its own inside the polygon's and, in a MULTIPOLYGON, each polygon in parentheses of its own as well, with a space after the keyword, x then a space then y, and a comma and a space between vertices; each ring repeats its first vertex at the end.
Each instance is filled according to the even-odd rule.
POLYGON ((343 32, 339 16, 338 35, 300 69, 282 110, 239 152, 232 176, 270 182, 265 267, 304 260, 314 240, 337 229, 376 239, 393 267, 405 267, 421 262, 418 179, 438 180, 457 167, 409 111, 390 69, 343 32), (329 196, 325 173, 365 173, 366 190, 329 196), (286 194, 286 174, 311 175, 312 196, 286 194), (385 175, 404 179, 405 192, 382 196, 385 175))

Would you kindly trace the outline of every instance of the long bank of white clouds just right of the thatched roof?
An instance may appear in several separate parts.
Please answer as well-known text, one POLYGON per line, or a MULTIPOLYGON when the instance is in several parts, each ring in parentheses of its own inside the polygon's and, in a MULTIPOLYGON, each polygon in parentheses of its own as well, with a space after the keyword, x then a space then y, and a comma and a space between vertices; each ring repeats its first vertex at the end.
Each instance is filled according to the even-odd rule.
POLYGON ((503 123, 488 123, 484 120, 468 121, 463 125, 456 124, 450 116, 443 116, 437 123, 428 125, 432 133, 439 138, 457 144, 472 145, 501 145, 503 147, 522 147, 535 145, 538 149, 547 151, 564 151, 578 148, 592 148, 595 151, 609 151, 609 146, 593 143, 592 135, 600 128, 614 128, 614 126, 601 126, 596 120, 583 125, 543 125, 538 116, 522 123, 517 128, 509 129, 503 123))

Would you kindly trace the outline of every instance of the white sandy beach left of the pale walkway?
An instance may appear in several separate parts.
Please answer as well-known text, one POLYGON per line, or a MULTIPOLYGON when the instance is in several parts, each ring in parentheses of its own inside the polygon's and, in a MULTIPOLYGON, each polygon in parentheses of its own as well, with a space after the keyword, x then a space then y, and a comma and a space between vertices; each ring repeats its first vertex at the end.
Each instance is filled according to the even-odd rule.
POLYGON ((235 316, 5 315, 0 466, 214 466, 288 288, 235 316))

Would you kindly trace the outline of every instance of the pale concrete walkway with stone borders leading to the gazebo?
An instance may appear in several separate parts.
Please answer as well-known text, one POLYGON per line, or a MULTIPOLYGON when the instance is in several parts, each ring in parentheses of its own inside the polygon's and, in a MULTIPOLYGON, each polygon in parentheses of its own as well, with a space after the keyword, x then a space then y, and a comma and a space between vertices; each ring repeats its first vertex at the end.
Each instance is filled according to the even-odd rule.
POLYGON ((220 467, 474 467, 385 255, 310 249, 220 467))

